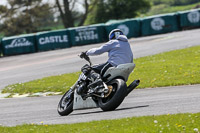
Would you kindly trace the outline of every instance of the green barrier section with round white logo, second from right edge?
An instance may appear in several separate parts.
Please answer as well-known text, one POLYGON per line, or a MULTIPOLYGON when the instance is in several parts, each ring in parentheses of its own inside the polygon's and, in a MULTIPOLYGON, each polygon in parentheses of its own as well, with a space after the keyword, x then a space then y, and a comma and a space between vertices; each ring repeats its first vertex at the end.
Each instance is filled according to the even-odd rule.
POLYGON ((142 22, 142 36, 178 31, 178 15, 175 13, 146 17, 142 22))

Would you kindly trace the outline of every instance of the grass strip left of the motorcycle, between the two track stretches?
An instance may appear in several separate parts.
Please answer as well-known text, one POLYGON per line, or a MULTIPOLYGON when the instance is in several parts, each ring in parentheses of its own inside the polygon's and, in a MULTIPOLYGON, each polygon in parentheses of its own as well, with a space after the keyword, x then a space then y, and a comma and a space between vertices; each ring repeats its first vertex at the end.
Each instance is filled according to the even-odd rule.
POLYGON ((5 87, 2 93, 65 92, 77 80, 80 72, 50 76, 5 87))

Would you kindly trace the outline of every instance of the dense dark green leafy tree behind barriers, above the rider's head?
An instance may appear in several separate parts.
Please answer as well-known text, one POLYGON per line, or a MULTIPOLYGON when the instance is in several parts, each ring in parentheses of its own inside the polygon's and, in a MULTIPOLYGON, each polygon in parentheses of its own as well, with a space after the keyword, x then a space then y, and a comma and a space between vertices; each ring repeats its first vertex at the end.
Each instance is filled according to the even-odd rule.
POLYGON ((98 0, 94 11, 88 16, 86 24, 104 23, 110 19, 134 18, 139 13, 148 11, 147 0, 98 0))

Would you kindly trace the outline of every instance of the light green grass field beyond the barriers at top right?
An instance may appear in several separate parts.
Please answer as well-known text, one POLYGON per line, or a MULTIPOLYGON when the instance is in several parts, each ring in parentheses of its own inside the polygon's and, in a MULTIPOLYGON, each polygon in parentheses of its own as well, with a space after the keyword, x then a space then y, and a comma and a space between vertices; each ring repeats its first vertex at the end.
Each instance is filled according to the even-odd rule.
POLYGON ((194 9, 197 5, 200 5, 200 2, 185 6, 170 6, 168 4, 155 5, 152 6, 148 13, 142 14, 141 17, 190 10, 194 9))

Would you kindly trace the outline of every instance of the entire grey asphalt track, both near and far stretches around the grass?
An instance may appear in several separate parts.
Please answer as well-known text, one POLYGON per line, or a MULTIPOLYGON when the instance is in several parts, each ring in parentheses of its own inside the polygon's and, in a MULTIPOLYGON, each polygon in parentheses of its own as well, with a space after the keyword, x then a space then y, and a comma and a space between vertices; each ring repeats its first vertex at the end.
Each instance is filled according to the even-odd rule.
MULTIPOLYGON (((138 58, 200 45, 199 36, 200 30, 197 29, 130 39, 130 43, 134 57, 138 58)), ((0 58, 0 88, 17 82, 79 71, 85 61, 77 55, 100 45, 102 44, 0 58)), ((92 61, 95 64, 105 62, 106 56, 103 54, 92 57, 92 61)), ((0 99, 0 124, 14 126, 40 122, 76 123, 130 116, 199 112, 199 89, 200 85, 135 90, 116 111, 79 110, 67 117, 60 117, 56 111, 61 96, 0 99)))

